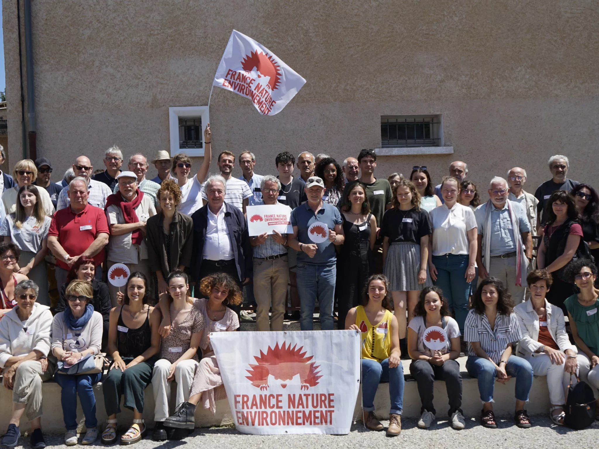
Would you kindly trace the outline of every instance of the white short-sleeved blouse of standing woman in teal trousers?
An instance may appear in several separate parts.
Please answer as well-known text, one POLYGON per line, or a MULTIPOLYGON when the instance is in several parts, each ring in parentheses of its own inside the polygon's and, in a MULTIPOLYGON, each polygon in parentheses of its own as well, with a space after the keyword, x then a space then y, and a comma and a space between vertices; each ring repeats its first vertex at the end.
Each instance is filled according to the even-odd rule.
POLYGON ((428 213, 432 224, 432 255, 468 254, 466 232, 476 228, 474 212, 459 203, 448 209, 446 205, 435 207, 428 213))

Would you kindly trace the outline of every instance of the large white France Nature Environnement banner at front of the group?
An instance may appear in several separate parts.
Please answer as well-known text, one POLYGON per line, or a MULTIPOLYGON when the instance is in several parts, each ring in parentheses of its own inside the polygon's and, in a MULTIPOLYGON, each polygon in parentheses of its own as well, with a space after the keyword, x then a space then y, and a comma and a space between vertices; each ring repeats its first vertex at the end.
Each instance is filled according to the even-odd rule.
POLYGON ((237 430, 349 433, 360 387, 360 335, 356 330, 211 333, 237 430))

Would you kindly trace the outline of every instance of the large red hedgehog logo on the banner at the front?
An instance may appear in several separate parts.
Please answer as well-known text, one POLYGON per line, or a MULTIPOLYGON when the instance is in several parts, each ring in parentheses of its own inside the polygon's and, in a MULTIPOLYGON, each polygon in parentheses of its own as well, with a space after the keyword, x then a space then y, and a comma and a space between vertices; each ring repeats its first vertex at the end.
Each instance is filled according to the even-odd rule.
MULTIPOLYGON (((277 343, 274 348, 269 346, 266 354, 261 350, 259 357, 254 356, 258 364, 250 363, 251 369, 246 369, 250 374, 246 378, 252 382, 253 386, 262 391, 269 387, 268 375, 273 375, 277 380, 288 381, 299 374, 301 390, 316 386, 322 377, 319 375, 320 371, 316 371, 320 365, 316 365, 315 362, 310 363, 313 356, 304 357, 306 351, 302 352, 303 346, 297 349, 296 347, 297 345, 291 347, 291 344, 286 346, 285 343, 279 346, 277 343)), ((282 383, 281 386, 285 388, 287 384, 282 383)))

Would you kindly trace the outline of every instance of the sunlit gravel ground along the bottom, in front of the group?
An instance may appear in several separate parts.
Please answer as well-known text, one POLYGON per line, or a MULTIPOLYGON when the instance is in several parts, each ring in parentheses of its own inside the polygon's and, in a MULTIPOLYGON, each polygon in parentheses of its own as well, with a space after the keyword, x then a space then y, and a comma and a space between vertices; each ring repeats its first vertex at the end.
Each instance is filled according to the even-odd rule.
MULTIPOLYGON (((403 420, 403 430, 400 436, 388 438, 385 432, 371 432, 364 429, 361 424, 352 427, 349 435, 243 435, 231 427, 212 429, 196 429, 192 436, 181 441, 166 441, 162 444, 152 441, 147 436, 134 445, 135 449, 171 449, 183 447, 210 448, 569 448, 569 449, 595 449, 599 447, 599 423, 584 430, 571 430, 566 427, 555 426, 544 416, 535 416, 533 427, 519 429, 513 424, 511 418, 498 421, 498 429, 485 429, 474 419, 467 420, 464 430, 453 430, 447 421, 438 419, 430 429, 418 429, 416 420, 403 420)), ((383 424, 387 424, 383 421, 383 424)), ((149 432, 150 433, 150 432, 149 432)), ((25 446, 29 449, 29 438, 25 438, 25 446)), ((46 443, 52 447, 62 447, 62 435, 47 435, 46 443)), ((98 439, 97 447, 103 446, 98 439)), ((79 446, 81 447, 81 446, 79 446)), ((20 449, 20 447, 17 447, 20 449)), ((183 449, 183 448, 181 448, 183 449)))

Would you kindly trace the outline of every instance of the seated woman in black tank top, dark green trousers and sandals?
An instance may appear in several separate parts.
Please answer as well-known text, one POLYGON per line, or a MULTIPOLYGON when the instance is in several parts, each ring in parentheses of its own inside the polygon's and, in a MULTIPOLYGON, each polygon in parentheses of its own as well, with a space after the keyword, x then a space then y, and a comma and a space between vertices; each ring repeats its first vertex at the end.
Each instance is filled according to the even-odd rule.
POLYGON ((120 437, 121 444, 133 444, 147 433, 142 419, 144 411, 144 390, 152 381, 154 363, 160 351, 160 312, 147 305, 148 280, 135 271, 126 284, 123 305, 110 311, 108 330, 108 355, 113 365, 102 385, 104 406, 108 421, 102 442, 116 442, 116 414, 120 413, 120 398, 125 396, 124 405, 133 410, 133 424, 120 437))

